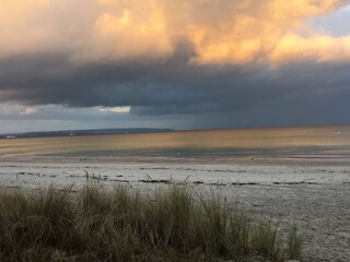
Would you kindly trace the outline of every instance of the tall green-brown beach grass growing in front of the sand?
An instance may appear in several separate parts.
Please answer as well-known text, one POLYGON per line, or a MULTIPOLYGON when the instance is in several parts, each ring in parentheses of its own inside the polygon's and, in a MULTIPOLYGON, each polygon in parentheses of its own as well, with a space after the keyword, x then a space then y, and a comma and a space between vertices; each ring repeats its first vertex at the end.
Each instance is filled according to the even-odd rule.
POLYGON ((188 186, 0 192, 0 261, 267 261, 302 258, 303 237, 188 186))

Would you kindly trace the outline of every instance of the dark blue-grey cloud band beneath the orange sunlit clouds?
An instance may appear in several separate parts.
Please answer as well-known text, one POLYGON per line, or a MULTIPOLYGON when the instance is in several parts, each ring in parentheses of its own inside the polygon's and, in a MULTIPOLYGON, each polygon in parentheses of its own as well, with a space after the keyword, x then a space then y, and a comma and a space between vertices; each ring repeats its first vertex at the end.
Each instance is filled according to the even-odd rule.
POLYGON ((0 98, 32 106, 131 106, 139 116, 197 115, 201 126, 208 114, 220 126, 350 122, 348 64, 199 67, 188 63, 192 56, 180 45, 166 61, 77 66, 69 53, 10 57, 0 60, 0 98))

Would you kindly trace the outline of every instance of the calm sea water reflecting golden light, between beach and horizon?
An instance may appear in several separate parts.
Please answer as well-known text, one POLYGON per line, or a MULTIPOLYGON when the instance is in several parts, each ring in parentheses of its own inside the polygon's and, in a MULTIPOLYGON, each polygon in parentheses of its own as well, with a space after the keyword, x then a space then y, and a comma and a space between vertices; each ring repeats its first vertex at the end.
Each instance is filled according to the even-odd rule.
POLYGON ((3 139, 0 156, 350 158, 350 127, 3 139))

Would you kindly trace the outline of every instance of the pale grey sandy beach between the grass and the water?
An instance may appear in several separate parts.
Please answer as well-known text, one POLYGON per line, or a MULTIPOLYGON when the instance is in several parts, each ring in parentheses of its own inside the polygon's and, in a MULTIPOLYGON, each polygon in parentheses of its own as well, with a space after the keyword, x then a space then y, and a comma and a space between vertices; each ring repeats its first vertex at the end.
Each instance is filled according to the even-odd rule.
POLYGON ((0 158, 0 187, 34 189, 52 183, 79 189, 86 184, 86 174, 90 180, 98 178, 105 188, 122 183, 144 192, 167 180, 186 181, 199 192, 219 190, 232 203, 272 217, 282 228, 296 224, 306 235, 305 261, 350 261, 349 165, 242 159, 170 162, 0 158))

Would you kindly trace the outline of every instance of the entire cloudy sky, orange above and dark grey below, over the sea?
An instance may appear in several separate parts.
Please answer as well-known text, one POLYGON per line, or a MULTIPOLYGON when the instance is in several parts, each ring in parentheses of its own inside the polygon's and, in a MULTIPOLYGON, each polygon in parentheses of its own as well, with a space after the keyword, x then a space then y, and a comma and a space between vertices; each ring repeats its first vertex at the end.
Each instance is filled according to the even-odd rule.
POLYGON ((0 0, 0 133, 350 124, 348 0, 0 0))

